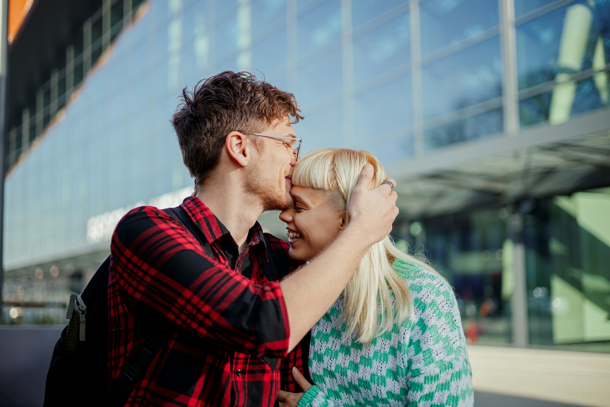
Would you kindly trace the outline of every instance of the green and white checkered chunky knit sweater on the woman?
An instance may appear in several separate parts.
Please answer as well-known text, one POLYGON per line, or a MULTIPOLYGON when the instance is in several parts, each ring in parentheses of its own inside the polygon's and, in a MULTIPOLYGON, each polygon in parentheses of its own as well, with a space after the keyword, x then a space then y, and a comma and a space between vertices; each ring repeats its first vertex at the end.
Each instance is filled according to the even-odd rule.
MULTIPOLYGON (((396 260, 409 283, 414 320, 369 344, 342 340, 343 298, 312 329, 304 406, 472 406, 472 373, 451 286, 424 268, 396 260)), ((381 310, 381 308, 380 308, 381 310)))

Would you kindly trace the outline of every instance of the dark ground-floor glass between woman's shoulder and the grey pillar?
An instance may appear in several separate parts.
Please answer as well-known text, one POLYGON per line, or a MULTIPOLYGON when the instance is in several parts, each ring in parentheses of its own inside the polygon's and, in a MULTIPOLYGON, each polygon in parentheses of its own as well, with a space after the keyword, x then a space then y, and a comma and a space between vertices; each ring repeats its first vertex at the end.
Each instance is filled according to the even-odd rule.
POLYGON ((512 342, 509 240, 497 210, 411 222, 397 238, 415 253, 425 250, 454 287, 468 343, 512 342))

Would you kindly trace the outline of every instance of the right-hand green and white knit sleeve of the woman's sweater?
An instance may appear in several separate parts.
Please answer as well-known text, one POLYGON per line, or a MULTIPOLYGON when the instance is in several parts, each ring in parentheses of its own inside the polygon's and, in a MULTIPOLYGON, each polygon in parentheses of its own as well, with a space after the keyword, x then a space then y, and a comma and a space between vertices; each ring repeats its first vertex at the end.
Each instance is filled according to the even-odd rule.
POLYGON ((473 406, 472 370, 453 289, 442 277, 412 284, 414 326, 407 347, 407 406, 473 406))

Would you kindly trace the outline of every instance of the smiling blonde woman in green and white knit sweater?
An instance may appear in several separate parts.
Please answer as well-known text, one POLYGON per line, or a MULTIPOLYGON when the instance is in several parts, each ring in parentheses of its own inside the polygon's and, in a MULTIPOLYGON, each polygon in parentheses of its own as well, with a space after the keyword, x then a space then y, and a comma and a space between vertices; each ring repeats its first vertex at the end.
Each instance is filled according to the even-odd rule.
MULTIPOLYGON (((321 149, 294 167, 290 256, 311 260, 350 219, 346 208, 362 167, 370 188, 386 179, 368 152, 321 149)), ((332 272, 332 271, 329 271, 332 272)), ((443 277, 390 240, 371 246, 331 309, 312 328, 310 386, 281 392, 282 406, 472 406, 472 374, 458 304, 443 277)))

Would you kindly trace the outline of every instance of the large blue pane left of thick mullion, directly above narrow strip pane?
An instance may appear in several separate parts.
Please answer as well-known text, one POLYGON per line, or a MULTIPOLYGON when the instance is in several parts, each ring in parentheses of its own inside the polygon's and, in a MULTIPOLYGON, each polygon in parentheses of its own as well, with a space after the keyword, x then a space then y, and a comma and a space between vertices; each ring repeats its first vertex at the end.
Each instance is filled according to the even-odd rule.
POLYGON ((495 37, 423 67, 422 88, 426 119, 500 97, 500 39, 495 37))

